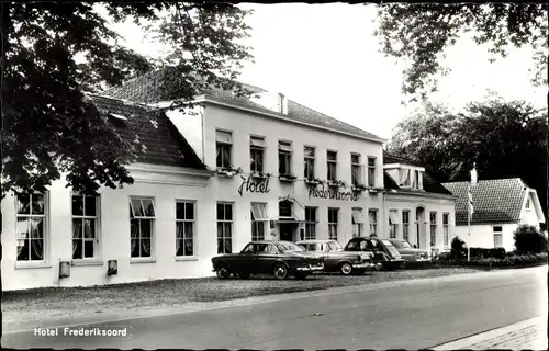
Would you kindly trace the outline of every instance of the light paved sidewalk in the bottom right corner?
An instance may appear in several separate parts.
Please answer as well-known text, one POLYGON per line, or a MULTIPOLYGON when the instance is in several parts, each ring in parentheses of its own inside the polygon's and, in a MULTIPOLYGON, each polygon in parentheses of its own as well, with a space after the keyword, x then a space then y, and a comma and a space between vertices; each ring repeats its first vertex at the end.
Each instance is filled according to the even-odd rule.
POLYGON ((547 350, 547 318, 536 317, 451 341, 433 350, 547 350))

